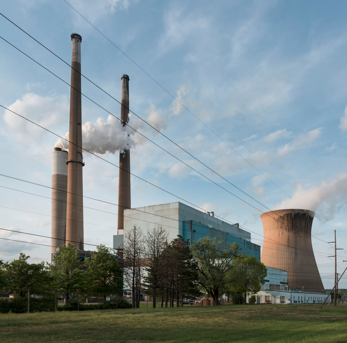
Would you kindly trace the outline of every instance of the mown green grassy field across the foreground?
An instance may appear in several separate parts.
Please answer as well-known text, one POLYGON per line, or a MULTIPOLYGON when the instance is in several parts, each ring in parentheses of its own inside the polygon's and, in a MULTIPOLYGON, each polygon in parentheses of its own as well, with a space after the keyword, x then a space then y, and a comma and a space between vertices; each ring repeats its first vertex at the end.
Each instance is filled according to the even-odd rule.
POLYGON ((347 306, 238 305, 0 315, 0 342, 347 343, 347 306))

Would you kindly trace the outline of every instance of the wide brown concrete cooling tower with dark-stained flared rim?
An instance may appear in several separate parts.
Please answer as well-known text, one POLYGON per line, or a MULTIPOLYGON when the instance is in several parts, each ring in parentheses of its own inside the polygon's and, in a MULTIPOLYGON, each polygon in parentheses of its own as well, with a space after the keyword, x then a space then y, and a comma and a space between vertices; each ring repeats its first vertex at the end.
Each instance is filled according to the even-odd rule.
POLYGON ((262 263, 287 271, 289 290, 324 292, 311 242, 314 212, 279 209, 260 217, 264 229, 262 263))

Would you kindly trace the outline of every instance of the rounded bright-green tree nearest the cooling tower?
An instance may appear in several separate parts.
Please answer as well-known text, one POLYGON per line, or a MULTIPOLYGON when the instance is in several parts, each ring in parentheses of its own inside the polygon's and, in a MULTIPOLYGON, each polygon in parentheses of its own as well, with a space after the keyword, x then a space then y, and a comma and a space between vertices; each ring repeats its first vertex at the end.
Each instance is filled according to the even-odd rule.
POLYGON ((268 271, 263 263, 254 256, 239 255, 232 260, 234 267, 229 273, 232 280, 230 292, 242 294, 244 304, 247 303, 247 295, 255 294, 260 291, 268 271))

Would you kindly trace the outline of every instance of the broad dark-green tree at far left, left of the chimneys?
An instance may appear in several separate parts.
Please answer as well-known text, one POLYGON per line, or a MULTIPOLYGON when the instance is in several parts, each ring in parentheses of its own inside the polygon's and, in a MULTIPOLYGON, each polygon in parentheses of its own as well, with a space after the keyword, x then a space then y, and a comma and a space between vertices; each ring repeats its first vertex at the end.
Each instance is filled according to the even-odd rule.
POLYGON ((3 288, 6 293, 12 292, 20 297, 26 297, 28 290, 31 294, 44 293, 48 282, 44 262, 30 264, 27 262, 29 258, 21 252, 18 259, 1 265, 7 279, 3 288))

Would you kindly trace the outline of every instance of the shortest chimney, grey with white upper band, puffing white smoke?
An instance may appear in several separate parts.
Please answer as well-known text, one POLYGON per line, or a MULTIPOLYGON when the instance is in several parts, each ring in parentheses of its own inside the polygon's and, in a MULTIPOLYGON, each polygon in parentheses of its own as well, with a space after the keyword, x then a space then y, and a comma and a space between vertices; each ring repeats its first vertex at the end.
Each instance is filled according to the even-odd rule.
POLYGON ((65 244, 67 160, 67 151, 54 148, 52 152, 52 254, 56 252, 56 247, 65 244))

